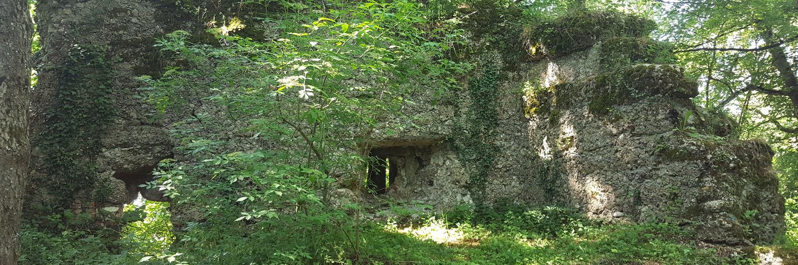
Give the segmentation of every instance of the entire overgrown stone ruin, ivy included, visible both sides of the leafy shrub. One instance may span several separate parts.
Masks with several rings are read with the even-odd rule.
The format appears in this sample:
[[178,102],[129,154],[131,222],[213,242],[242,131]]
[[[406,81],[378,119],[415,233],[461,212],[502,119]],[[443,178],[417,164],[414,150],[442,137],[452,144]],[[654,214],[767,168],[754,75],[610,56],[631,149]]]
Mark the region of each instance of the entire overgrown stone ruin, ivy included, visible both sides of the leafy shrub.
[[[223,2],[215,12],[247,18],[251,10],[235,5]],[[29,214],[46,211],[56,197],[87,212],[121,212],[139,192],[148,200],[168,200],[138,185],[152,179],[162,159],[184,155],[173,150],[169,125],[212,107],[188,99],[195,110],[151,119],[152,106],[136,97],[141,84],[135,78],[176,65],[154,50],[154,37],[177,29],[203,36],[196,15],[184,9],[140,0],[39,2],[42,52],[32,135],[40,147],[34,151],[39,160],[28,189]],[[574,24],[579,21],[589,23]],[[597,12],[559,23],[551,27],[583,31],[565,40],[556,30],[507,30],[519,45],[503,49],[486,45],[484,33],[472,33],[472,45],[484,52],[463,58],[478,65],[472,78],[459,80],[464,89],[440,99],[421,89],[411,96],[417,104],[402,108],[405,125],[415,126],[373,139],[370,155],[387,160],[373,166],[385,175],[369,176],[377,193],[437,211],[510,198],[571,207],[591,218],[670,221],[713,244],[771,242],[784,232],[772,150],[764,142],[735,139],[733,121],[693,105],[697,82],[673,64],[666,45],[649,39],[651,21]],[[627,26],[609,26],[618,24]],[[267,29],[257,37],[268,40],[277,33],[268,26],[247,29]],[[100,57],[121,60],[108,69],[94,63]],[[74,68],[83,65],[94,68],[76,74]],[[75,88],[75,82],[89,86]],[[52,115],[65,108],[64,92],[72,90],[101,99],[75,105],[89,118]],[[97,108],[101,103],[113,104],[113,111]],[[62,123],[66,127],[52,129]],[[73,124],[95,132],[73,131]],[[76,164],[94,161],[96,167],[53,165],[45,153],[53,150],[42,150],[53,138],[76,145],[60,150],[74,154]],[[56,172],[76,173],[82,181]],[[196,221],[190,216],[201,218],[188,212],[174,208],[176,227]]]

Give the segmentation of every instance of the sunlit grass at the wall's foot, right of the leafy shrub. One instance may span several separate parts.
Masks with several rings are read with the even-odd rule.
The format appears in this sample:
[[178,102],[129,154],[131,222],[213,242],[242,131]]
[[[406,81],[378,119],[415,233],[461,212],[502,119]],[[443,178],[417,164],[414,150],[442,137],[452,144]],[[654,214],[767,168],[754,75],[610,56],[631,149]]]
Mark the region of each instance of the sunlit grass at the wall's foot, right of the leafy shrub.
[[[567,216],[540,216],[541,208],[505,212],[504,218],[457,224],[435,216],[411,228],[395,223],[365,229],[363,264],[753,264],[702,249],[675,224],[606,224],[562,208]],[[553,211],[549,211],[553,212]],[[531,214],[530,214],[531,213]],[[537,224],[519,222],[536,216]],[[563,218],[565,217],[565,218]],[[445,217],[444,217],[445,218]],[[570,220],[553,231],[540,223]],[[528,218],[526,220],[529,220]]]

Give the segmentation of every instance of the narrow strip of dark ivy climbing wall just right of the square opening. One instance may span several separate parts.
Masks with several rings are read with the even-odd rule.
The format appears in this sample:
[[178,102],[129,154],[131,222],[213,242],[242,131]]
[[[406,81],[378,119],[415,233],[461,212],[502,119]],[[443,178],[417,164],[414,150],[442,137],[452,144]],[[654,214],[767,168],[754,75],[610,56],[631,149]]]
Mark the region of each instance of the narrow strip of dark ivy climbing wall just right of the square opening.
[[448,137],[449,145],[469,173],[466,189],[477,206],[484,205],[485,188],[488,184],[493,161],[499,147],[496,146],[496,127],[499,125],[498,74],[496,68],[484,68],[480,78],[472,78],[468,91],[471,106],[464,123],[456,124]]

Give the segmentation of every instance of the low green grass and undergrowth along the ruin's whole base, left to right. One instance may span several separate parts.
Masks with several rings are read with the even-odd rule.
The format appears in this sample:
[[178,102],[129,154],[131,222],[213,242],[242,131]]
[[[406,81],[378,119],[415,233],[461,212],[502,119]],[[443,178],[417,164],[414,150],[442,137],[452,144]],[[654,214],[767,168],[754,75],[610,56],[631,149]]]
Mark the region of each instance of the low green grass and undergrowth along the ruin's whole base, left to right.
[[[757,264],[701,247],[675,224],[610,224],[569,208],[506,202],[491,208],[460,206],[403,223],[361,223],[353,228],[358,251],[336,230],[302,232],[301,224],[290,222],[263,229],[231,224],[240,225],[200,225],[165,252],[148,249],[153,245],[145,242],[149,236],[137,236],[144,240],[139,244],[124,247],[117,241],[108,248],[93,236],[23,228],[26,259],[20,264]],[[140,263],[142,258],[147,260]]]

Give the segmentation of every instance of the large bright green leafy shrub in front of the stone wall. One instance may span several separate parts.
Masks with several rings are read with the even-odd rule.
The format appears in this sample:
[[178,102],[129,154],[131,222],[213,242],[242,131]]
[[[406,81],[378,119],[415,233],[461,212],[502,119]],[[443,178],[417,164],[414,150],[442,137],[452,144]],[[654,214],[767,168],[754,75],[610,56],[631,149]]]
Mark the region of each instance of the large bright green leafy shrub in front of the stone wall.
[[358,205],[339,202],[335,187],[363,189],[369,135],[391,134],[416,84],[447,88],[468,64],[443,57],[460,31],[419,28],[426,21],[414,3],[322,10],[263,18],[285,31],[275,41],[214,32],[221,45],[201,45],[181,31],[158,41],[186,64],[141,79],[158,109],[152,119],[188,104],[208,111],[172,124],[184,155],[156,173],[177,204],[207,209],[180,234],[175,247],[187,256],[220,264],[368,259],[365,224],[348,214]]

